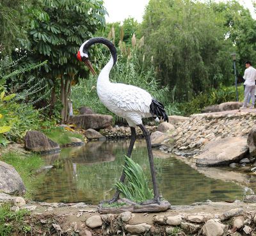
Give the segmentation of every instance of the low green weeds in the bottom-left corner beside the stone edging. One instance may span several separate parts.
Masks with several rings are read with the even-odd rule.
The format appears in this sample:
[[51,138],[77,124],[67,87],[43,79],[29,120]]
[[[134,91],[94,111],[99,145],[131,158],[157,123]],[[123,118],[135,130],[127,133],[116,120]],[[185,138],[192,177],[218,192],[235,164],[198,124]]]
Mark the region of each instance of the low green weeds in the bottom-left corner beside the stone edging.
[[13,212],[10,204],[0,206],[0,235],[10,236],[14,233],[29,233],[31,227],[24,223],[24,217],[29,216],[28,210]]

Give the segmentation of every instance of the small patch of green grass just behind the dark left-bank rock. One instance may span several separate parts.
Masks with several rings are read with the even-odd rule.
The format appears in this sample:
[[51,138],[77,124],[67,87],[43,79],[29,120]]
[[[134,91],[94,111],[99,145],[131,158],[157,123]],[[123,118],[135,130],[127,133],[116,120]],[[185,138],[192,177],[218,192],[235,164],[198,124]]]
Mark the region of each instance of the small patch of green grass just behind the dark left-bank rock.
[[63,127],[53,127],[51,129],[42,130],[44,134],[52,139],[54,142],[58,143],[58,145],[67,145],[71,143],[72,137],[79,138],[83,140],[83,136],[81,134],[77,134],[76,132],[70,132],[65,130]]

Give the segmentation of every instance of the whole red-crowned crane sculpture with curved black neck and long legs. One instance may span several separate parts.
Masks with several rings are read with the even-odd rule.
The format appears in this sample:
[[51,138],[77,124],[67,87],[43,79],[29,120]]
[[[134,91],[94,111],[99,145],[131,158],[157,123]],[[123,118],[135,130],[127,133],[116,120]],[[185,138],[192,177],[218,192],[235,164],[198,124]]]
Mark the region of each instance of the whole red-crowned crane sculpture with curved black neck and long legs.
[[[106,106],[109,111],[115,113],[116,115],[125,118],[129,127],[131,128],[131,141],[129,149],[127,152],[127,157],[131,157],[132,148],[136,139],[136,126],[138,125],[145,136],[147,142],[148,159],[150,164],[150,171],[153,182],[154,189],[154,199],[147,201],[149,203],[160,203],[159,191],[156,182],[156,171],[154,168],[154,159],[152,154],[152,146],[150,142],[150,133],[145,128],[142,123],[142,118],[156,117],[168,121],[168,116],[164,111],[164,106],[161,102],[158,102],[153,98],[147,91],[142,90],[136,86],[121,84],[121,83],[111,83],[109,81],[109,72],[111,68],[115,65],[117,59],[116,48],[113,43],[111,43],[106,38],[91,38],[84,42],[79,51],[77,52],[77,59],[83,61],[86,66],[90,69],[93,75],[96,75],[89,61],[89,48],[95,43],[102,43],[109,48],[111,52],[111,58],[105,67],[101,70],[98,80],[97,80],[97,94],[100,101]],[[120,182],[124,182],[125,173],[123,171],[120,178]],[[119,191],[117,190],[111,200],[107,202],[113,203],[119,198]]]

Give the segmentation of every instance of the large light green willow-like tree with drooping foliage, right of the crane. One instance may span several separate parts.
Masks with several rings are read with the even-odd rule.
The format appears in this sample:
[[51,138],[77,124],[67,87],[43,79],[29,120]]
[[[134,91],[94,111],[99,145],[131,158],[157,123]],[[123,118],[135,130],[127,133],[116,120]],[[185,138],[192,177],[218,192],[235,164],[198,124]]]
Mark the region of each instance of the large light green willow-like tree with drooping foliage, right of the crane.
[[200,91],[229,84],[234,49],[225,38],[225,19],[210,3],[190,0],[150,0],[141,33],[148,60],[176,100],[189,100]]

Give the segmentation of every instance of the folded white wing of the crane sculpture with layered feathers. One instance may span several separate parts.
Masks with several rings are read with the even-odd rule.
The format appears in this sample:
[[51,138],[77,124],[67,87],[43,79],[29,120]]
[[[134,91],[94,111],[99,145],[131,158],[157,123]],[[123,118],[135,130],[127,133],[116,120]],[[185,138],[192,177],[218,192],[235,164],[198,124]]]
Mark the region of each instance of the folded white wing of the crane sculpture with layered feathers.
[[136,86],[115,84],[109,98],[123,111],[150,113],[151,95]]

